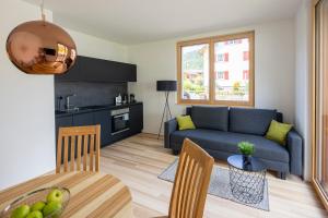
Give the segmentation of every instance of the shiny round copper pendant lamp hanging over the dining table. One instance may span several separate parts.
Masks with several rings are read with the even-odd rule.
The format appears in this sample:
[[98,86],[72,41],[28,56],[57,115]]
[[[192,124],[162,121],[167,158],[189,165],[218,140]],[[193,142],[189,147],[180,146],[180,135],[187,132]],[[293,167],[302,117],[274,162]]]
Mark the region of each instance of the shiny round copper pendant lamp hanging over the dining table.
[[7,52],[11,62],[27,74],[63,74],[77,60],[71,36],[45,19],[16,26],[8,36]]

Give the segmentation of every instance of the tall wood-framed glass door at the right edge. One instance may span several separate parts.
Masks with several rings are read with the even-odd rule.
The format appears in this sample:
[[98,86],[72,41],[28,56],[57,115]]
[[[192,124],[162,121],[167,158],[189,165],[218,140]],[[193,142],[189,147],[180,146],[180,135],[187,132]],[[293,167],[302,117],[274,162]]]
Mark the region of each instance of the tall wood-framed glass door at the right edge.
[[313,184],[328,208],[328,0],[314,10]]

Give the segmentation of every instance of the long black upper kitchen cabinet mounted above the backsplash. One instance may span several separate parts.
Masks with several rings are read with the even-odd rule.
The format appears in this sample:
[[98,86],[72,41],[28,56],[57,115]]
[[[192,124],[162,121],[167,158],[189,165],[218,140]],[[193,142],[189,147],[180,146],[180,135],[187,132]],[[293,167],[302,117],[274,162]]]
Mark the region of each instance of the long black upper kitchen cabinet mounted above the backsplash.
[[56,81],[137,82],[137,65],[79,56],[74,66]]

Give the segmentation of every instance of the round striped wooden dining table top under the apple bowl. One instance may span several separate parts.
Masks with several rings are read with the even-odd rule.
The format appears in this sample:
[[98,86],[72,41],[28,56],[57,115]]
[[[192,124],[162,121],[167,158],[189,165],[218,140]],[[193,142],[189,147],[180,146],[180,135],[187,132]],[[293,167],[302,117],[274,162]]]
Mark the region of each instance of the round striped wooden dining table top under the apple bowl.
[[23,194],[49,186],[71,192],[61,217],[132,217],[129,189],[117,178],[101,172],[69,172],[38,177],[0,192],[0,210]]

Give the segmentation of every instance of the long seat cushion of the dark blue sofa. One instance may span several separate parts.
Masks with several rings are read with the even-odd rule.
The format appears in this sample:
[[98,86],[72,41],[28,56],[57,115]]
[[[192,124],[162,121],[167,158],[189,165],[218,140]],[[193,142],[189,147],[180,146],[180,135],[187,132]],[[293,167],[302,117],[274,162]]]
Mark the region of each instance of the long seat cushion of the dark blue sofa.
[[185,130],[175,131],[171,134],[169,141],[173,148],[179,149],[184,140],[188,137],[204,149],[221,150],[238,154],[237,144],[247,141],[255,144],[255,157],[289,162],[290,156],[285,147],[269,141],[259,135],[241,134],[214,130]]

